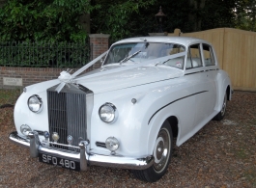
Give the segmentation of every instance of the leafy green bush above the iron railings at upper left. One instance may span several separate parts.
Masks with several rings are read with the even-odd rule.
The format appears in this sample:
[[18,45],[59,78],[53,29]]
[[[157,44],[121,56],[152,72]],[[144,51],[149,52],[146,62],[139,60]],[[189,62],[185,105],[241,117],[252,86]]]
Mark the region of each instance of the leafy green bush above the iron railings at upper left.
[[89,0],[9,0],[0,9],[0,39],[85,40],[79,18],[97,8]]

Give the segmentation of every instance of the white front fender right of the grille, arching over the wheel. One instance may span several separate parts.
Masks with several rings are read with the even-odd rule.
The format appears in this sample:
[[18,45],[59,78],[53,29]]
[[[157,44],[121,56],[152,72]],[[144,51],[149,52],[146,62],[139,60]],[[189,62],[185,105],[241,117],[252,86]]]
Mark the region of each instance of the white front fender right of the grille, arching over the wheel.
[[[95,143],[104,142],[107,137],[114,136],[121,143],[118,154],[137,157],[152,154],[158,131],[168,117],[182,117],[181,124],[193,121],[194,111],[189,111],[194,107],[195,97],[183,99],[193,90],[191,83],[181,79],[164,81],[161,85],[154,83],[150,86],[95,94],[90,136],[92,149],[107,151],[105,148],[97,148]],[[136,98],[135,104],[131,102],[132,98]],[[118,120],[112,124],[100,121],[98,115],[100,106],[105,102],[114,104],[118,109]],[[166,106],[168,103],[170,104]],[[185,141],[188,129],[189,126],[179,127],[180,144]]]

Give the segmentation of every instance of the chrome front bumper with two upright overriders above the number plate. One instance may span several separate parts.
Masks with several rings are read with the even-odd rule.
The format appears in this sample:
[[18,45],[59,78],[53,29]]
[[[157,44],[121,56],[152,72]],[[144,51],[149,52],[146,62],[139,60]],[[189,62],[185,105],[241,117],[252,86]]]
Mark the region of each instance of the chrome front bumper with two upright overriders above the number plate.
[[65,152],[56,148],[43,148],[39,141],[37,132],[30,132],[28,136],[30,139],[24,139],[19,137],[17,132],[12,132],[9,135],[9,139],[16,145],[29,148],[31,157],[38,157],[39,152],[43,152],[45,154],[51,154],[57,157],[80,162],[81,171],[86,171],[88,165],[144,170],[151,167],[154,163],[153,155],[144,158],[131,158],[117,155],[100,155],[96,153],[88,153],[86,151],[86,143],[79,144],[80,153]]

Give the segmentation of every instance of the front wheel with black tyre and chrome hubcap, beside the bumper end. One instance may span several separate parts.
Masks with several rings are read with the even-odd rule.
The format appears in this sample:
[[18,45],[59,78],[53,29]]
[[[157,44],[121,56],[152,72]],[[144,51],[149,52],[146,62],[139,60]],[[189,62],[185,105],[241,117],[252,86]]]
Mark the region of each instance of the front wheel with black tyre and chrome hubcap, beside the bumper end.
[[173,134],[168,121],[164,121],[156,138],[153,155],[155,157],[154,165],[146,170],[132,171],[137,178],[155,182],[165,174],[170,163],[173,148]]

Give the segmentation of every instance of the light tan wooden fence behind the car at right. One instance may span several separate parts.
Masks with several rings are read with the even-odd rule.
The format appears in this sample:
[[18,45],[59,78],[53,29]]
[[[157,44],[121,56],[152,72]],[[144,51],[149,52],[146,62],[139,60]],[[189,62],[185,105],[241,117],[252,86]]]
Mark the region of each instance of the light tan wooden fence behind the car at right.
[[256,32],[218,28],[195,33],[176,29],[168,36],[194,37],[213,44],[219,66],[228,72],[235,90],[256,92]]

